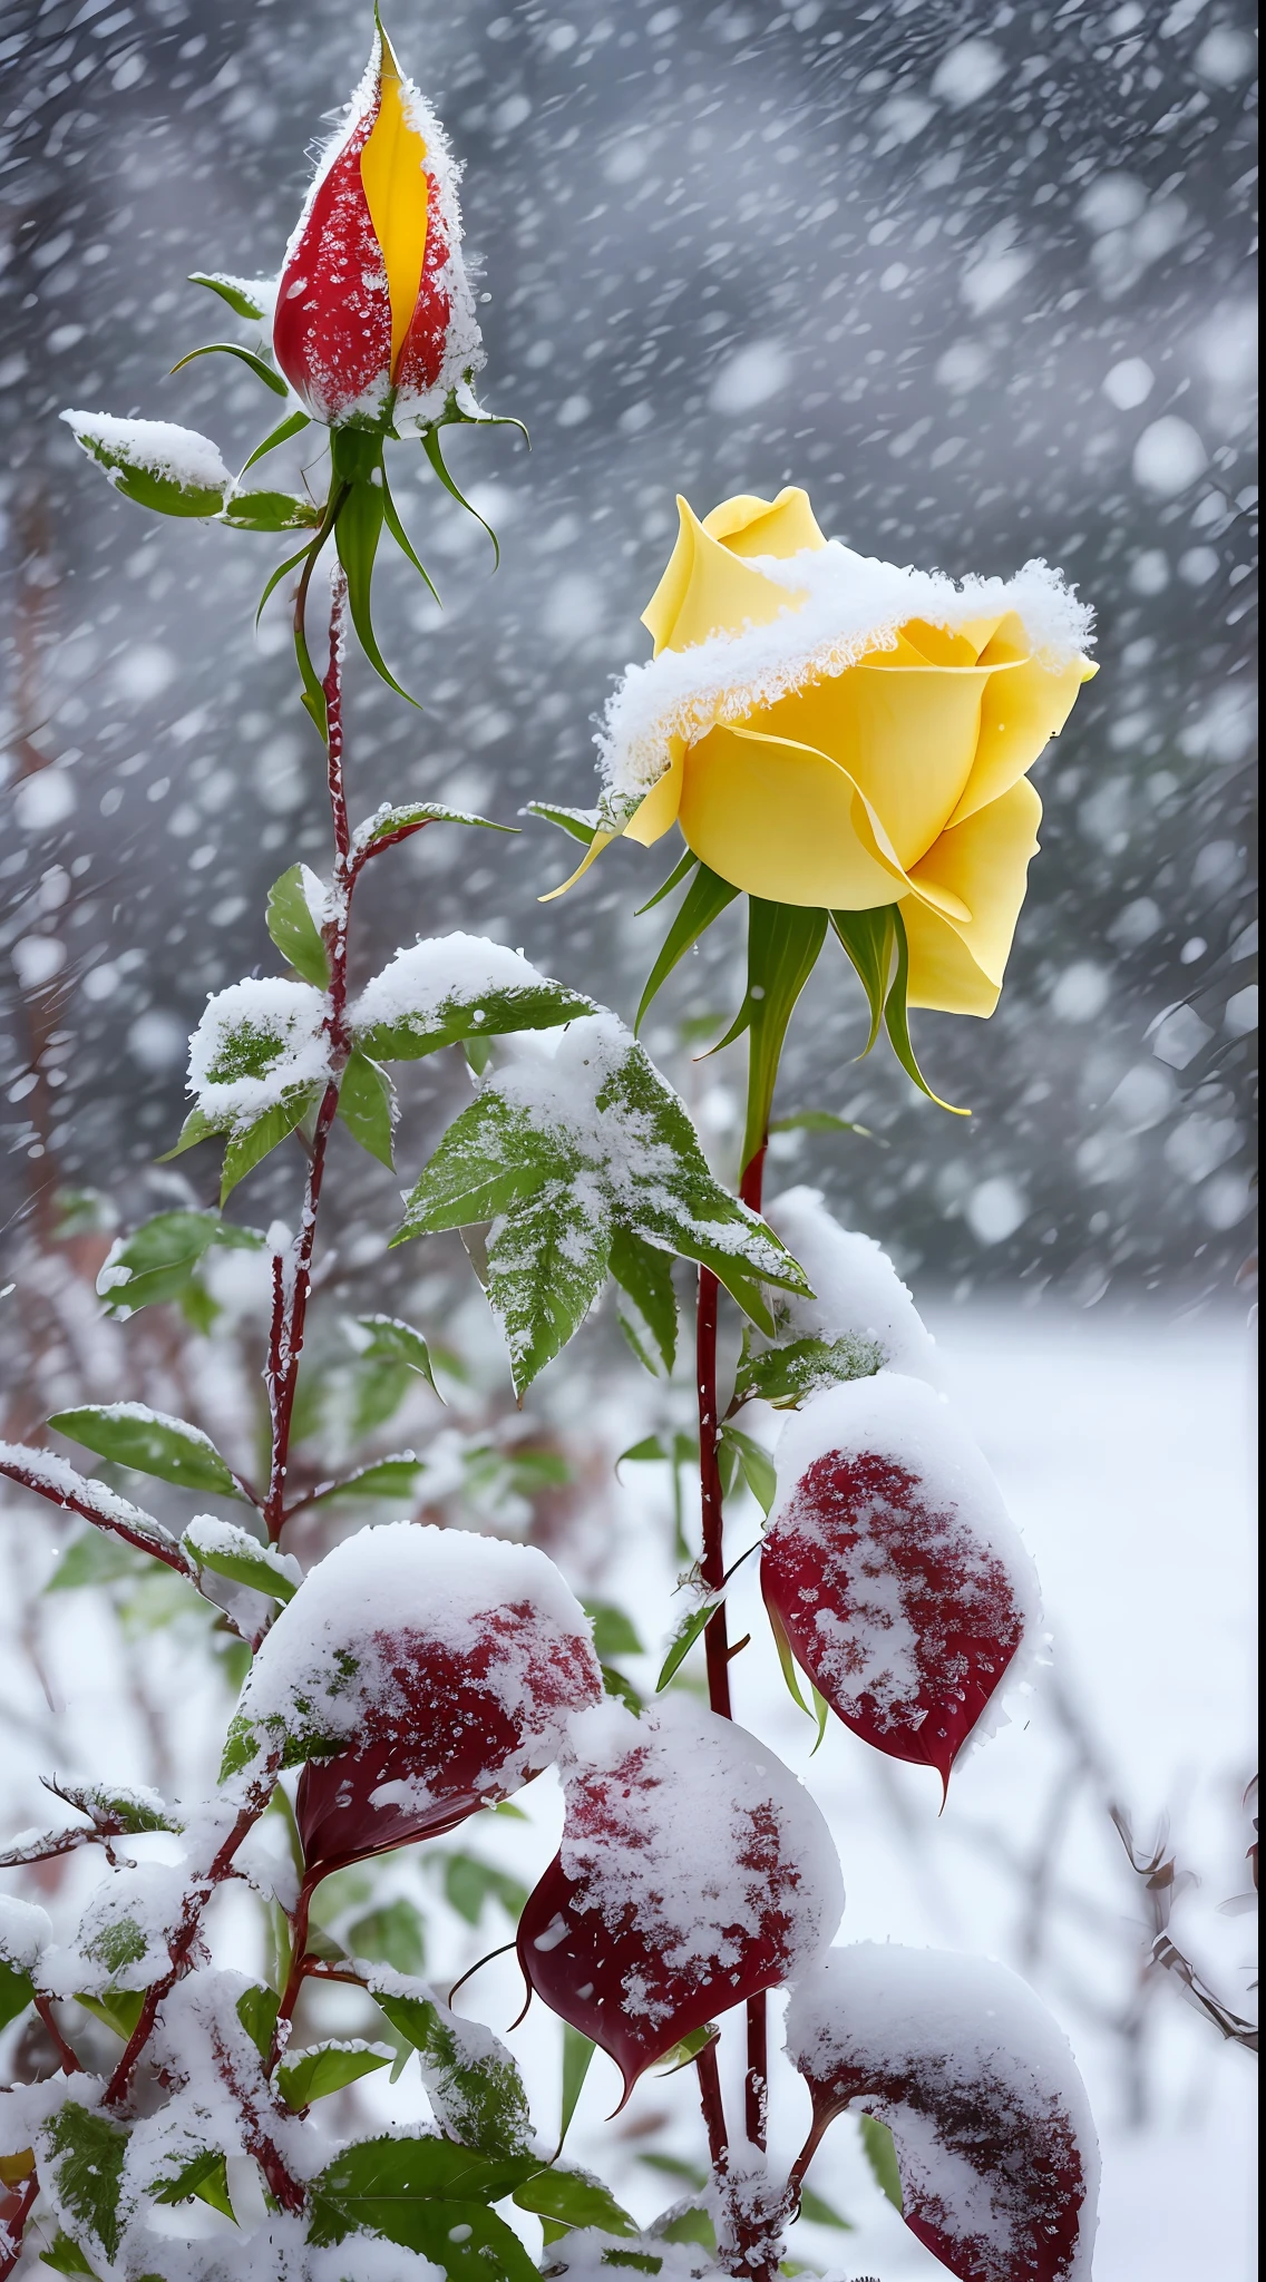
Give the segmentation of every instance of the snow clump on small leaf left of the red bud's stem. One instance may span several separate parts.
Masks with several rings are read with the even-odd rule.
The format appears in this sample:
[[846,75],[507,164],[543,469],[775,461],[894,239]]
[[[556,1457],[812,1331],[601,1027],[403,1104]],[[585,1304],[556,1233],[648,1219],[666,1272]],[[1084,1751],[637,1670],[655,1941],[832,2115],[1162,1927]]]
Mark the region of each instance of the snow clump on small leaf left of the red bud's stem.
[[244,1132],[287,1095],[328,1077],[326,997],[287,974],[208,997],[189,1038],[189,1093],[221,1132]]

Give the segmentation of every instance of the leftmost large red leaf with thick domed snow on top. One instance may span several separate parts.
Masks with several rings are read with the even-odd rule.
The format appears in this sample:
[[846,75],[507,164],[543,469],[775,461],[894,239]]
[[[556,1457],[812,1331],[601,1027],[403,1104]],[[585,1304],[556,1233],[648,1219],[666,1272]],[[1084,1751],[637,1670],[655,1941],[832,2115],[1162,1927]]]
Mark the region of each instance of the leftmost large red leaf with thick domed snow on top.
[[281,1611],[224,1771],[322,1762],[297,1800],[313,1883],[518,1791],[600,1693],[589,1618],[543,1552],[390,1522],[335,1545]]

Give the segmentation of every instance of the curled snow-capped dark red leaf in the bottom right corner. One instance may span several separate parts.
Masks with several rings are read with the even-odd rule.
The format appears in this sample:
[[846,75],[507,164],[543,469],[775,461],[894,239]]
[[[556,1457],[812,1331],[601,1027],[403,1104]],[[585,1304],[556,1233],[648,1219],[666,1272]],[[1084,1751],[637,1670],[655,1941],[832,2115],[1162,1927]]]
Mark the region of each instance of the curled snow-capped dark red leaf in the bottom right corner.
[[958,2282],[1090,2282],[1099,2147],[1068,2040],[1006,1965],[855,1942],[792,1990],[814,2104],[892,2131],[910,2232]]

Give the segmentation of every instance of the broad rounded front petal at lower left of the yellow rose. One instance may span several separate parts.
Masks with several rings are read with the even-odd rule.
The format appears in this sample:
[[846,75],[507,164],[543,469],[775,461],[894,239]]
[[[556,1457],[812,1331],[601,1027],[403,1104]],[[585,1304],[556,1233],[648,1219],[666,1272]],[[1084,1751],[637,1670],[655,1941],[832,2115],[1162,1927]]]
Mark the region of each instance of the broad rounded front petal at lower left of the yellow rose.
[[906,892],[851,776],[787,737],[709,730],[687,753],[677,822],[709,872],[766,904],[874,911]]

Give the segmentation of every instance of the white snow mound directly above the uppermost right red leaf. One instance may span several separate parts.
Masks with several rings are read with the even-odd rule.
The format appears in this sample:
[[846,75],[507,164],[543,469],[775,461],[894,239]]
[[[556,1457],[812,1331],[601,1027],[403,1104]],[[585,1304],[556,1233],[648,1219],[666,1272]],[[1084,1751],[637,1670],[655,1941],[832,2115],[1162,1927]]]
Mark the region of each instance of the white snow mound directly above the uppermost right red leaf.
[[764,1216],[814,1287],[814,1298],[778,1298],[785,1337],[874,1340],[887,1369],[940,1387],[935,1340],[874,1237],[842,1228],[821,1189],[785,1189]]

